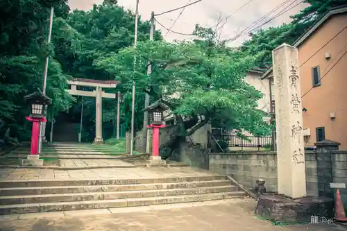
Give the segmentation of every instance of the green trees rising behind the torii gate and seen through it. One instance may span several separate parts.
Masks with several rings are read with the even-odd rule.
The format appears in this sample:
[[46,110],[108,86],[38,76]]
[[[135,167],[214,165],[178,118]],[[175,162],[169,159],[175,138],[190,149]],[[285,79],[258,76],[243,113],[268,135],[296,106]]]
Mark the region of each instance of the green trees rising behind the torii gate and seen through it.
[[[61,22],[65,24],[65,22]],[[59,51],[56,51],[58,60],[62,64],[65,73],[77,78],[89,78],[96,80],[113,80],[119,73],[110,74],[103,68],[96,67],[94,60],[107,57],[109,53],[118,53],[119,49],[133,46],[135,32],[135,15],[130,10],[125,10],[117,5],[117,1],[105,1],[94,5],[92,10],[74,10],[66,19],[66,25],[72,28],[75,39],[74,46],[65,40]],[[142,22],[139,17],[138,40],[149,40],[150,24]],[[155,31],[155,40],[162,40],[160,32]],[[131,117],[131,89],[117,85],[117,89],[108,89],[108,92],[116,93],[119,90],[123,96],[124,103],[121,107],[121,123],[130,130]],[[85,110],[83,116],[83,130],[87,132],[90,139],[94,134],[95,99],[84,98]],[[81,114],[82,98],[69,110],[69,117],[79,118]],[[105,138],[113,135],[115,126],[117,101],[103,100],[103,128]],[[142,110],[144,105],[144,93],[136,94],[135,108]],[[136,116],[136,129],[140,129],[143,117]],[[79,121],[79,119],[78,119]]]

